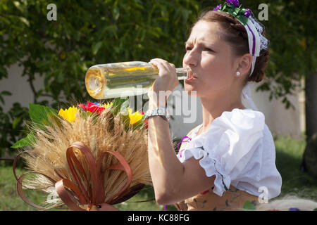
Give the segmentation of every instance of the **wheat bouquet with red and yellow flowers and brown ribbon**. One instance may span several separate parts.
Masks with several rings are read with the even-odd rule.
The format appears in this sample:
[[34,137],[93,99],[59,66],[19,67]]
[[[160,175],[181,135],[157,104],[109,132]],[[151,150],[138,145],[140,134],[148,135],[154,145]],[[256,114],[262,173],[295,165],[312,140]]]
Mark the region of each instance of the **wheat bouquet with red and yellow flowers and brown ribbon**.
[[[147,159],[147,119],[132,113],[128,98],[68,109],[30,104],[29,134],[12,147],[23,148],[13,162],[18,195],[41,210],[67,205],[70,210],[116,210],[151,184]],[[31,147],[31,150],[27,148]],[[19,177],[19,157],[29,171]],[[25,178],[26,174],[34,174]],[[54,196],[35,205],[23,188]]]

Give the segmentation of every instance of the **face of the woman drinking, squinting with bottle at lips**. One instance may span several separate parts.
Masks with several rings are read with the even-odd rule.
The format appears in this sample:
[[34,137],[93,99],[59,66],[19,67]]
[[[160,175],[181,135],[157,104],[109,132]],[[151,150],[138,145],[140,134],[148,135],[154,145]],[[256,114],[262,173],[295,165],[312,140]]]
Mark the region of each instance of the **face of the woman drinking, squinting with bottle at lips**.
[[219,23],[200,20],[194,25],[186,41],[183,67],[190,68],[185,79],[188,94],[197,91],[197,97],[218,97],[228,93],[235,82],[232,47],[222,37]]

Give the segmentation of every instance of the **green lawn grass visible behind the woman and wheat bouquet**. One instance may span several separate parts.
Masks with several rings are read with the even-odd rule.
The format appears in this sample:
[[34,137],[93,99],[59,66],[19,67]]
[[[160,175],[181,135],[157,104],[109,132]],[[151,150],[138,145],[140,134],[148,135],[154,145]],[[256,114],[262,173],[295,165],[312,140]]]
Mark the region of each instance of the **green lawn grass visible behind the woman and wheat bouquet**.
[[[317,179],[301,172],[300,165],[304,153],[305,141],[275,136],[276,167],[282,176],[282,192],[277,198],[294,194],[301,198],[317,201]],[[0,164],[1,165],[1,164]],[[25,172],[18,169],[18,174]],[[25,195],[33,203],[41,203],[44,198],[41,191],[25,191]],[[155,201],[146,203],[132,203],[134,201],[149,200],[154,198],[151,186],[145,186],[137,195],[124,203],[115,205],[119,210],[130,211],[163,211],[163,205]],[[21,200],[15,191],[15,178],[11,167],[0,167],[0,210],[29,211],[37,210]],[[67,207],[54,210],[68,210]],[[167,211],[176,210],[173,205],[168,205]]]

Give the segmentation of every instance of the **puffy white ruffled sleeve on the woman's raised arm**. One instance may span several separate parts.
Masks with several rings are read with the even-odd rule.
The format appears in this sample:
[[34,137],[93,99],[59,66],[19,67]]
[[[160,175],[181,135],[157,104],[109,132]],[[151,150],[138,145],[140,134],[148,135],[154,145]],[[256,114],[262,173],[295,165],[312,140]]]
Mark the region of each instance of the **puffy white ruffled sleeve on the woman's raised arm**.
[[251,156],[261,142],[264,126],[265,118],[259,111],[224,112],[207,131],[195,136],[178,158],[180,162],[200,159],[206,176],[216,175],[213,192],[222,196],[243,169],[256,160]]

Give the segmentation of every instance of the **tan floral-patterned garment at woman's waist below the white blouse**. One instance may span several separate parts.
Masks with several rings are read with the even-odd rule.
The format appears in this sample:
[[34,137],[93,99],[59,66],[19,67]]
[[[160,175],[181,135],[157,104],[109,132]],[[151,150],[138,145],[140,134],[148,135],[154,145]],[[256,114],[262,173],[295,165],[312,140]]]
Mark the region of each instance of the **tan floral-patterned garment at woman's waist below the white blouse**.
[[221,197],[209,189],[174,205],[180,211],[240,211],[247,200],[257,203],[258,196],[230,186]]

